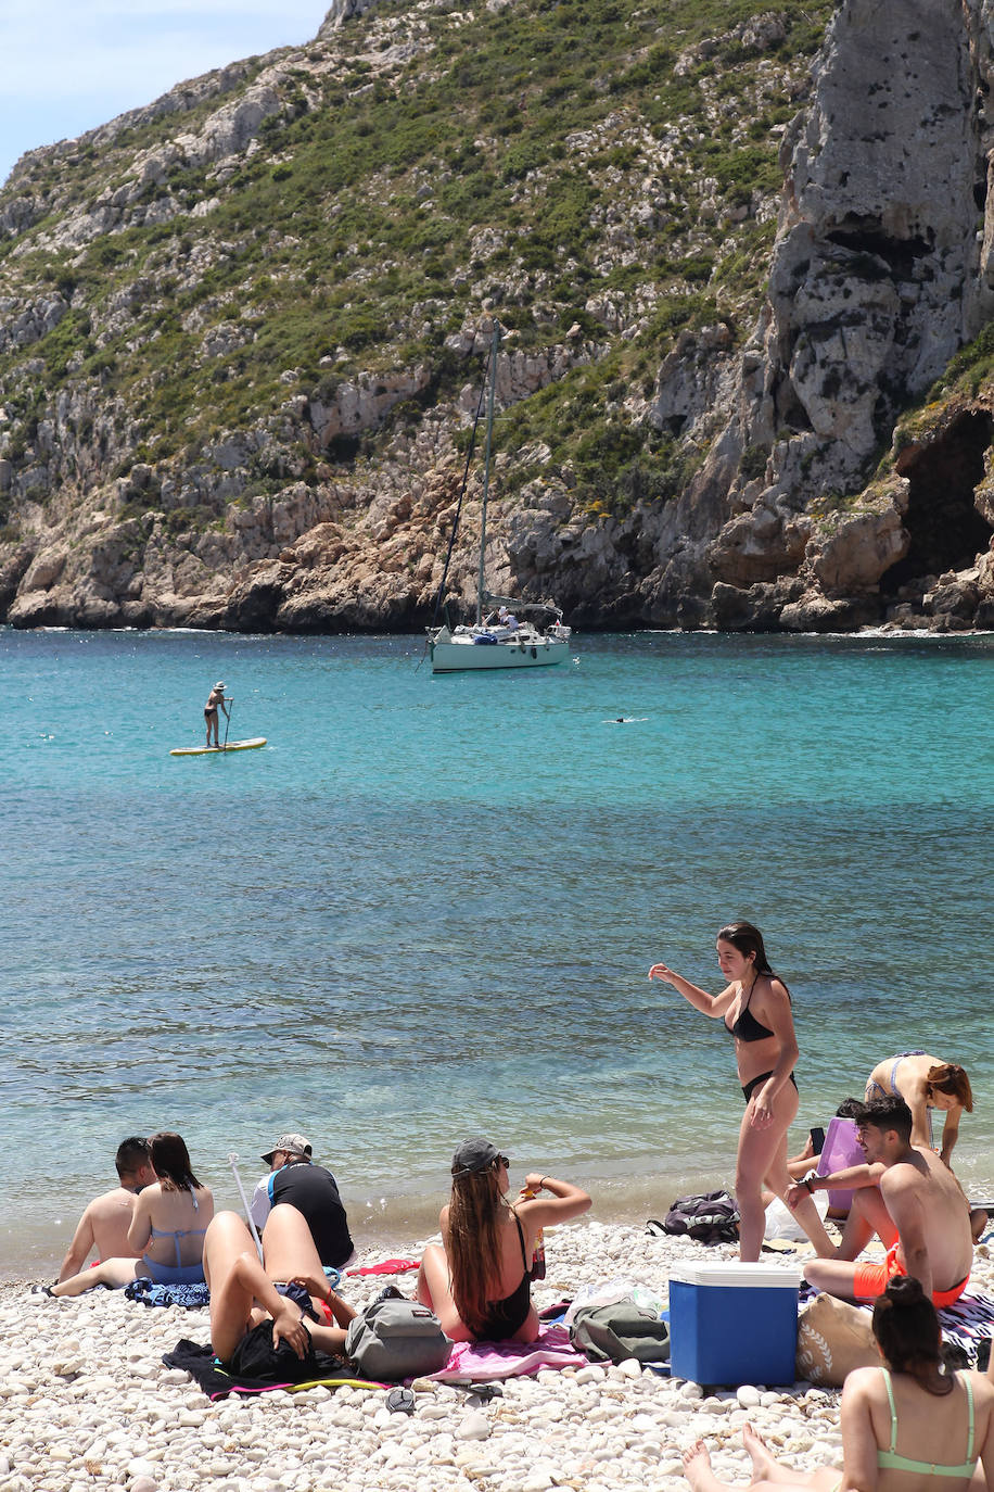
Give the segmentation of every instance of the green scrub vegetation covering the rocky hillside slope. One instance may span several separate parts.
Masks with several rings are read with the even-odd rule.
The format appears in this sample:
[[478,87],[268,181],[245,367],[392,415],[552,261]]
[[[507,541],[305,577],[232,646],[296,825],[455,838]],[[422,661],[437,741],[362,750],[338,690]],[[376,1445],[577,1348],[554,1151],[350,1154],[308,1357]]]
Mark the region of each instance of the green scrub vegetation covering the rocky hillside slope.
[[[253,428],[270,437],[256,489],[319,460],[376,461],[383,431],[314,451],[300,401],[422,366],[422,392],[386,425],[411,436],[475,376],[459,334],[493,312],[526,352],[571,333],[595,348],[508,409],[499,443],[547,448],[595,512],[666,500],[702,452],[647,419],[660,361],[683,331],[753,327],[779,139],[832,10],[788,0],[779,39],[767,27],[756,43],[748,22],[770,15],[757,0],[395,0],[280,54],[261,148],[206,167],[177,154],[131,201],[133,225],[77,246],[66,215],[128,192],[136,154],[195,133],[218,100],[72,158],[39,152],[0,206],[51,210],[0,240],[0,295],[67,309],[28,345],[0,342],[0,454],[40,463],[40,427],[75,391],[80,422],[113,422],[125,470],[189,464]],[[115,440],[89,434],[89,476],[106,477]]]

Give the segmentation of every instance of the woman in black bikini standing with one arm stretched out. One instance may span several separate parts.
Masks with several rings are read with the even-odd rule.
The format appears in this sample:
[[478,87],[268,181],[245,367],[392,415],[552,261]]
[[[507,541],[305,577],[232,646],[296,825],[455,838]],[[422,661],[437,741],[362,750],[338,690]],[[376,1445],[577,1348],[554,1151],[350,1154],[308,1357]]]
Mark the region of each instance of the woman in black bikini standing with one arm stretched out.
[[[745,1097],[735,1168],[735,1200],[741,1213],[739,1258],[753,1264],[763,1244],[763,1186],[779,1198],[793,1185],[787,1171],[787,1131],[797,1115],[797,1037],[787,985],[766,958],[763,934],[751,922],[730,922],[717,937],[718,965],[729,980],[720,995],[691,985],[666,964],[653,964],[650,979],[672,985],[694,1010],[723,1021],[735,1037],[735,1058]],[[809,1197],[794,1209],[817,1252],[835,1253]]]

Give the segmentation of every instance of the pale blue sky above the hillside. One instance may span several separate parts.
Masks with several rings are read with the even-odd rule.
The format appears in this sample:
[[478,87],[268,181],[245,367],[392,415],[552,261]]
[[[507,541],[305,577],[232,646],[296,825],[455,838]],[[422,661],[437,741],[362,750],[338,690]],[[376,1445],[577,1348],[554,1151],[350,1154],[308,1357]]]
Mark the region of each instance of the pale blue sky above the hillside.
[[188,78],[298,46],[331,0],[0,0],[0,182]]

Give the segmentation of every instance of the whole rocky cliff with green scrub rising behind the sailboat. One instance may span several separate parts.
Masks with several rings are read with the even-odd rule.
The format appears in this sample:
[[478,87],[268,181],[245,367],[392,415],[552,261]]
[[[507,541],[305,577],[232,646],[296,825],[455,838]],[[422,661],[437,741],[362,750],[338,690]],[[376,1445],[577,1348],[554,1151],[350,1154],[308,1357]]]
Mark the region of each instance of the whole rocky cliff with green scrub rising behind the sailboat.
[[[337,0],[0,192],[0,615],[994,625],[994,3]],[[478,476],[452,576],[474,586]]]

